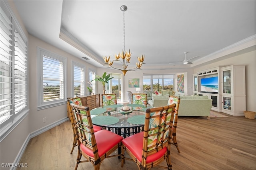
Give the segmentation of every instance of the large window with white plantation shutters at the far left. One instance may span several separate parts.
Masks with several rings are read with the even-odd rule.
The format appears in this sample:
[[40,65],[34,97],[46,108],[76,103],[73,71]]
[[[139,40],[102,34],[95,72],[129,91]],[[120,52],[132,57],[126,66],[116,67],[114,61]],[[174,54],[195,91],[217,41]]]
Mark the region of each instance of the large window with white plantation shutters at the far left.
[[27,38],[1,1],[0,132],[2,140],[28,113]]

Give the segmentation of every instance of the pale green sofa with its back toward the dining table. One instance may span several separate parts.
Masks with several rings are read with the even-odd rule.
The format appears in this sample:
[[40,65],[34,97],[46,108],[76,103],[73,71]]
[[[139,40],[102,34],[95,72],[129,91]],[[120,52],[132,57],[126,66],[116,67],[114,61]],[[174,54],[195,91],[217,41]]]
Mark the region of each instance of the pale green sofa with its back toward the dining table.
[[[168,99],[154,98],[153,107],[166,106]],[[179,116],[207,116],[210,119],[212,99],[208,96],[180,96]]]

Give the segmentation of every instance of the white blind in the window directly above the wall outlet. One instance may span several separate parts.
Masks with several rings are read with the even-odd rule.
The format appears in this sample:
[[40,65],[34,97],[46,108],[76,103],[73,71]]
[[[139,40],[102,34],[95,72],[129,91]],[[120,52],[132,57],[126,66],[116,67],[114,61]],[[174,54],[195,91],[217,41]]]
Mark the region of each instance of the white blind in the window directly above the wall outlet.
[[64,99],[63,61],[43,56],[43,102]]

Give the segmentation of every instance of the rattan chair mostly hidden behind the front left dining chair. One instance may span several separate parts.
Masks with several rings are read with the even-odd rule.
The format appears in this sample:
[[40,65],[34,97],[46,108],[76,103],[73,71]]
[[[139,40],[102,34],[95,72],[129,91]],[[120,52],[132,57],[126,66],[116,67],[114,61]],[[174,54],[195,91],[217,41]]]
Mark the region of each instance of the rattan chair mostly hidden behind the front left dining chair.
[[[73,137],[74,137],[74,138],[73,138],[73,146],[72,146],[72,149],[71,149],[70,154],[73,153],[74,148],[77,146],[77,139],[76,139],[77,131],[76,131],[76,128],[75,128],[74,117],[73,117],[72,110],[71,110],[71,107],[70,107],[70,104],[71,104],[71,103],[72,103],[72,104],[79,105],[79,106],[82,106],[81,98],[80,98],[80,97],[68,98],[68,101],[67,101],[67,105],[68,105],[68,114],[69,114],[69,117],[70,117],[72,129],[73,129]],[[93,129],[94,129],[94,131],[96,132],[96,131],[100,131],[100,130],[102,129],[102,127],[93,125]]]

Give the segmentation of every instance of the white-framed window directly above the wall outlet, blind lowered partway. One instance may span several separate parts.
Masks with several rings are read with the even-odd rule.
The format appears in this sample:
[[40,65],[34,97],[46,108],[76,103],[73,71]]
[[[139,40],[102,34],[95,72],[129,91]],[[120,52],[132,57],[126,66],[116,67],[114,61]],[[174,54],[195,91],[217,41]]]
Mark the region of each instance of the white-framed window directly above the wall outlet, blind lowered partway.
[[66,103],[66,59],[38,47],[38,109]]

